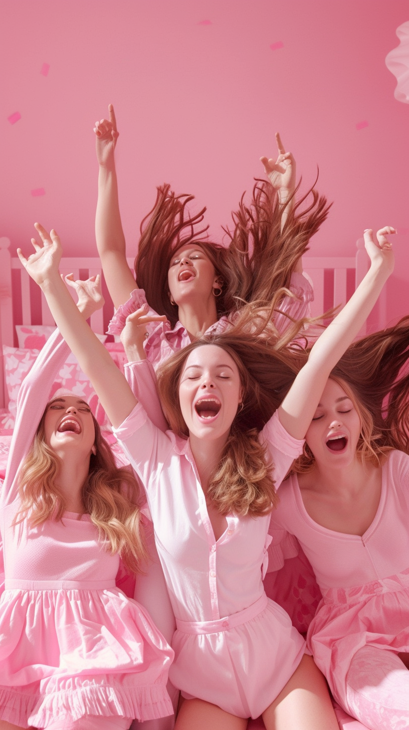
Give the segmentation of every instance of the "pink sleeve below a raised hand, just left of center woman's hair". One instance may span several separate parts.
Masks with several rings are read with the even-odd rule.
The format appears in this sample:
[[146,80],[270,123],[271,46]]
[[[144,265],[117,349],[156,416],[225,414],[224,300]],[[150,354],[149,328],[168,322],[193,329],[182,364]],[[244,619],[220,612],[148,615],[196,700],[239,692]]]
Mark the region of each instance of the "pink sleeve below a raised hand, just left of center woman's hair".
[[149,360],[127,363],[124,372],[132,393],[144,407],[149,420],[161,431],[167,431],[169,426],[156,390],[156,374],[152,363]]

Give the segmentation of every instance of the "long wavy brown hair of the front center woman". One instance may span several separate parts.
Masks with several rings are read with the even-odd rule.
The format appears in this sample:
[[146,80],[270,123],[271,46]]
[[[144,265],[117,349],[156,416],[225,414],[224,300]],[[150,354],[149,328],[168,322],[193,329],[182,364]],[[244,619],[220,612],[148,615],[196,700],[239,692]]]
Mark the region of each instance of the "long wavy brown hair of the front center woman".
[[259,441],[259,431],[283,401],[306,359],[303,350],[288,349],[286,338],[279,339],[273,330],[258,337],[265,325],[264,317],[259,315],[255,305],[245,307],[231,330],[191,342],[161,364],[157,372],[159,396],[169,425],[177,435],[187,437],[178,392],[189,354],[202,345],[218,345],[237,364],[242,408],[233,420],[207,492],[222,515],[265,515],[275,506],[274,465],[266,445]]

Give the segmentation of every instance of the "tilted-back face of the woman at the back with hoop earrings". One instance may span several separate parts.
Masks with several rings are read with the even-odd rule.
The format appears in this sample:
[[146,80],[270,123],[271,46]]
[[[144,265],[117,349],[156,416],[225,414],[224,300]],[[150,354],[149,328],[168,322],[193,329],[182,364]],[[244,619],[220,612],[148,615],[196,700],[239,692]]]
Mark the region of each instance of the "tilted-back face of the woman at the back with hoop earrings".
[[181,246],[172,256],[167,276],[169,292],[176,304],[183,304],[192,295],[208,299],[213,287],[220,286],[220,277],[210,258],[197,243]]

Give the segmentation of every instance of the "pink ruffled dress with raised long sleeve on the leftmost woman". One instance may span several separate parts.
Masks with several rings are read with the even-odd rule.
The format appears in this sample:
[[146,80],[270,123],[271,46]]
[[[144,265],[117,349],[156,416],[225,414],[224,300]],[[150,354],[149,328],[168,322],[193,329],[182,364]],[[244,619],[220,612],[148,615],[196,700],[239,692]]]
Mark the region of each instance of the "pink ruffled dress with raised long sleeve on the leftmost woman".
[[119,556],[104,549],[89,516],[12,526],[18,469],[65,358],[57,332],[20,388],[1,489],[0,718],[45,728],[86,715],[162,717],[173,712],[166,690],[173,651],[148,612],[115,587]]

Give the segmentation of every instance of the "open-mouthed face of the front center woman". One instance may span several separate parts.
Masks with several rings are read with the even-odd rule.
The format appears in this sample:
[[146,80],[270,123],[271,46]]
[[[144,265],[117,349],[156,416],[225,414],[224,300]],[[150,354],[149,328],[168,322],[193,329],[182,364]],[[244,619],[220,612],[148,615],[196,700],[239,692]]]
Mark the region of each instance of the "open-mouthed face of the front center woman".
[[217,345],[196,347],[180,375],[180,410],[189,433],[201,439],[227,439],[242,395],[232,356]]

